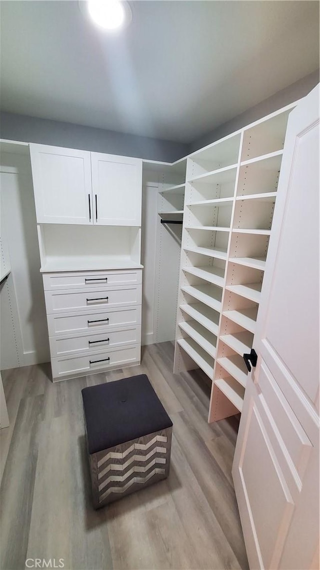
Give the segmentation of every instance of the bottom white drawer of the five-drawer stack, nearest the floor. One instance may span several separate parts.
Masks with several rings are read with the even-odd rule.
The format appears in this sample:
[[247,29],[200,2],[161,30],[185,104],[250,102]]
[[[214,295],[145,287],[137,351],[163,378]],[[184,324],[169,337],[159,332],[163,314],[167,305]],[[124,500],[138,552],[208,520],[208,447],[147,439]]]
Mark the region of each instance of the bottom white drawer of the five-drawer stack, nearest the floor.
[[122,368],[127,364],[140,362],[140,344],[122,348],[109,348],[108,351],[97,352],[90,355],[63,356],[51,359],[52,376],[55,380],[65,376],[80,376],[108,370],[108,368]]

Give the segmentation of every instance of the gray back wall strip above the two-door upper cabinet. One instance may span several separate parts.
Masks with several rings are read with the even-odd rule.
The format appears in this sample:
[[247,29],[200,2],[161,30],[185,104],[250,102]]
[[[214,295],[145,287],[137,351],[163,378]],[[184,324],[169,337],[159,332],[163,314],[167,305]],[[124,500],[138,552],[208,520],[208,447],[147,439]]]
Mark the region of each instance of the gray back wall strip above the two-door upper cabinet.
[[2,139],[65,146],[93,152],[105,152],[173,162],[188,154],[188,145],[151,139],[75,125],[48,119],[38,119],[15,113],[0,113]]

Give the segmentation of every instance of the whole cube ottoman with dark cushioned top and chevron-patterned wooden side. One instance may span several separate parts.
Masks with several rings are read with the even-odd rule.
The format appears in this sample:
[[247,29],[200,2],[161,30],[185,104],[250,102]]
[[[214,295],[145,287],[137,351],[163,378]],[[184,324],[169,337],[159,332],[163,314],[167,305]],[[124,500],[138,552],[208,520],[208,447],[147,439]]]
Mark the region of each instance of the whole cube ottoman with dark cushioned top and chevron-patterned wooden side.
[[146,374],[82,397],[95,508],[168,477],[173,424]]

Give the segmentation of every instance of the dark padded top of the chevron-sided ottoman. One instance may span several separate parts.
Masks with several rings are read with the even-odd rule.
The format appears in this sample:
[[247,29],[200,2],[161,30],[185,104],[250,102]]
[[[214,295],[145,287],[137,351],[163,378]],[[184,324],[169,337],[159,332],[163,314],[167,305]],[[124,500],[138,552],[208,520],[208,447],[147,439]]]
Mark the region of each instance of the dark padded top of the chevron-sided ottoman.
[[173,425],[146,374],[84,388],[82,397],[90,454]]

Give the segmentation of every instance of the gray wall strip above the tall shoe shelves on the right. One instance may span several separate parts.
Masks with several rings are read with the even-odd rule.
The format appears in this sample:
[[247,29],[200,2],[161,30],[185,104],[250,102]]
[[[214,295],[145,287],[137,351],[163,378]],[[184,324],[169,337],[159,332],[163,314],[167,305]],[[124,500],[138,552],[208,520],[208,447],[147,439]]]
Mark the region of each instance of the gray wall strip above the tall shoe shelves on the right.
[[298,80],[296,83],[292,83],[289,87],[278,91],[268,99],[265,99],[261,103],[255,105],[251,109],[248,109],[241,115],[237,115],[234,119],[227,121],[227,123],[223,123],[214,131],[210,131],[207,135],[203,135],[199,139],[193,141],[189,145],[189,153],[193,152],[194,150],[198,150],[207,144],[214,143],[222,137],[230,135],[249,125],[250,123],[254,123],[261,117],[269,115],[269,113],[273,113],[281,107],[285,107],[293,101],[297,101],[301,99],[301,97],[305,97],[307,93],[311,91],[317,84],[319,83],[319,70],[314,71],[310,75],[306,75],[306,77]]

